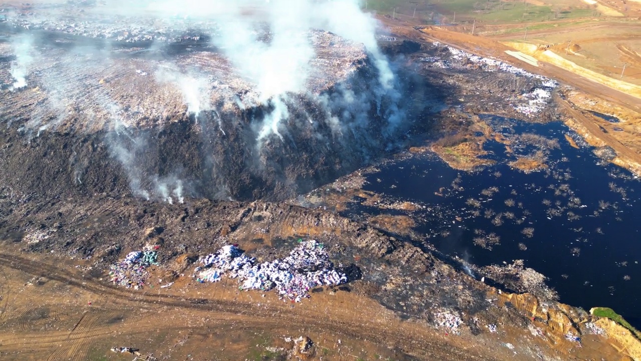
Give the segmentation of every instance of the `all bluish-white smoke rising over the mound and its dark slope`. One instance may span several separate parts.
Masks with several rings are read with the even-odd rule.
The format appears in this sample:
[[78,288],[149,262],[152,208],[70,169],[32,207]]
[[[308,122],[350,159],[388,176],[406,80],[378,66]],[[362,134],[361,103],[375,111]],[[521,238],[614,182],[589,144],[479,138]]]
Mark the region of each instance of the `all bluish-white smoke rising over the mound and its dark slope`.
[[[131,108],[119,103],[113,92],[91,83],[96,80],[90,82],[86,76],[74,74],[81,67],[94,67],[93,73],[106,75],[117,71],[114,68],[118,65],[110,60],[117,52],[78,47],[65,55],[58,66],[48,69],[40,78],[44,82],[41,85],[47,91],[49,109],[58,114],[42,110],[43,114],[32,118],[31,127],[54,129],[71,113],[90,116],[106,125],[104,128],[109,130],[104,143],[127,173],[129,188],[138,197],[167,202],[182,202],[185,195],[231,198],[234,191],[229,179],[245,169],[250,173],[249,180],[244,180],[247,184],[260,183],[269,175],[277,178],[276,188],[295,187],[301,180],[291,179],[288,174],[296,166],[297,152],[303,146],[296,139],[313,144],[314,148],[306,148],[308,154],[301,154],[310,159],[309,163],[324,162],[326,168],[349,170],[358,164],[347,158],[360,163],[369,161],[372,150],[394,143],[406,119],[395,66],[378,48],[378,24],[362,11],[358,0],[105,0],[83,9],[82,16],[100,19],[101,26],[122,23],[123,19],[140,24],[153,20],[153,24],[162,24],[158,33],[180,28],[206,35],[210,46],[229,63],[229,69],[251,84],[251,94],[233,94],[233,87],[220,84],[219,76],[197,66],[186,66],[180,57],[171,55],[148,58],[149,63],[156,64],[149,68],[149,74],[137,71],[141,77],[153,78],[158,86],[168,87],[167,92],[179,92],[187,116],[201,127],[203,149],[199,156],[203,165],[197,170],[201,174],[192,172],[187,177],[196,179],[185,179],[180,166],[154,168],[144,158],[156,139],[153,134],[131,128],[131,124],[145,119],[135,114],[152,109],[161,118],[167,112],[162,109],[163,104],[146,102],[150,92],[133,85],[138,80],[130,80],[130,96],[140,98],[138,105]],[[330,31],[365,49],[370,69],[361,76],[365,82],[339,82],[320,93],[310,89],[311,80],[329,76],[312,65],[318,56],[313,41],[319,31]],[[12,75],[17,89],[26,86],[34,49],[30,37],[15,39]],[[150,49],[162,48],[163,45],[152,44]],[[79,90],[88,88],[92,89],[88,96]],[[223,90],[233,96],[214,96]],[[245,110],[244,120],[234,115]],[[382,121],[372,122],[372,118]],[[243,125],[244,121],[249,121],[249,127]],[[331,163],[331,156],[337,153],[345,159]],[[239,158],[244,163],[232,164]],[[312,180],[303,181],[313,186],[317,175],[309,173],[307,177]]]

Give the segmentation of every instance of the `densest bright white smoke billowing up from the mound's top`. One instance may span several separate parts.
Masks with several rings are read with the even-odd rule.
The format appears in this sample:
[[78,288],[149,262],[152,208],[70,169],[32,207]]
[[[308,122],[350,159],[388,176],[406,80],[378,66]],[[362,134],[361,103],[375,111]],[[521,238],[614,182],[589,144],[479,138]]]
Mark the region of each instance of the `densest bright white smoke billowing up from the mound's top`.
[[[160,0],[137,1],[135,6],[120,0],[106,1],[106,7],[95,11],[127,15],[152,16],[171,22],[189,19],[197,23],[206,19],[218,24],[212,42],[233,64],[236,71],[255,84],[258,101],[269,104],[273,111],[265,116],[256,138],[260,143],[271,135],[283,136],[281,121],[287,119],[287,94],[306,91],[306,82],[314,75],[310,60],[315,51],[310,30],[331,31],[338,36],[363,44],[379,73],[379,98],[394,96],[395,75],[376,42],[378,23],[362,10],[360,0]],[[263,30],[267,30],[269,39]],[[206,101],[197,79],[185,76],[175,80],[183,89],[190,112],[198,112]],[[392,103],[399,100],[392,99]],[[380,101],[380,99],[376,100]],[[390,130],[401,121],[400,112],[388,110]]]

